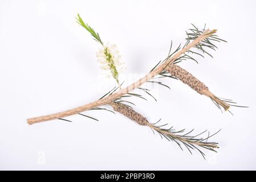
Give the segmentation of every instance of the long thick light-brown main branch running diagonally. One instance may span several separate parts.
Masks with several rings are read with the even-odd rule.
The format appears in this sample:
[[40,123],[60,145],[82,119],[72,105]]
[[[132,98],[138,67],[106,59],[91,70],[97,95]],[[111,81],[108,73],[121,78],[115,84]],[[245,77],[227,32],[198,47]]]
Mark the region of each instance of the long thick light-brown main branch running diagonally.
[[54,119],[64,118],[64,117],[68,117],[70,115],[78,114],[80,112],[83,112],[83,111],[86,111],[86,110],[90,110],[90,109],[92,109],[94,107],[110,104],[116,98],[119,98],[120,96],[123,96],[124,94],[132,92],[132,90],[138,88],[139,86],[141,86],[145,82],[151,80],[151,78],[155,77],[160,72],[162,72],[169,64],[172,64],[183,53],[188,51],[190,48],[196,46],[196,44],[200,43],[201,40],[204,40],[204,39],[208,38],[209,36],[211,36],[211,35],[213,35],[215,33],[216,33],[216,30],[210,31],[208,29],[208,30],[204,31],[200,36],[198,36],[197,39],[193,40],[192,43],[188,44],[188,46],[182,48],[180,51],[175,53],[172,57],[169,57],[169,59],[166,60],[165,63],[159,65],[152,72],[148,73],[143,78],[140,78],[139,80],[137,80],[133,84],[127,86],[124,89],[120,89],[116,93],[113,93],[111,96],[102,98],[101,100],[97,100],[97,101],[91,102],[89,104],[80,106],[80,107],[76,107],[74,109],[62,111],[60,113],[55,113],[55,114],[50,114],[50,115],[44,115],[44,116],[41,116],[41,117],[30,118],[30,119],[27,119],[27,123],[32,125],[34,123],[39,123],[39,122],[44,122],[44,121],[51,121],[51,120],[54,120]]

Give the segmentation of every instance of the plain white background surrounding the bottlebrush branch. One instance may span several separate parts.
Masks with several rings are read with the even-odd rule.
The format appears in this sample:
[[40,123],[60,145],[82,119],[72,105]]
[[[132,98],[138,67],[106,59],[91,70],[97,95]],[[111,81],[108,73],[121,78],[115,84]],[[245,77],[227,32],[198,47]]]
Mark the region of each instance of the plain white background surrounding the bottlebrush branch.
[[[256,169],[255,9],[252,1],[0,1],[0,169]],[[228,43],[214,59],[182,67],[217,96],[249,109],[222,114],[212,101],[176,80],[155,87],[156,103],[136,100],[150,122],[175,129],[222,131],[218,153],[188,151],[161,140],[120,114],[88,111],[72,123],[27,125],[26,119],[87,104],[115,85],[100,75],[99,47],[75,23],[80,13],[104,42],[116,43],[127,75],[147,73],[174,46],[185,43],[190,23],[218,29]],[[127,76],[123,76],[127,77]],[[126,81],[126,84],[130,83]],[[100,86],[101,85],[101,86]],[[109,107],[110,109],[110,107]],[[206,134],[207,135],[207,134]]]

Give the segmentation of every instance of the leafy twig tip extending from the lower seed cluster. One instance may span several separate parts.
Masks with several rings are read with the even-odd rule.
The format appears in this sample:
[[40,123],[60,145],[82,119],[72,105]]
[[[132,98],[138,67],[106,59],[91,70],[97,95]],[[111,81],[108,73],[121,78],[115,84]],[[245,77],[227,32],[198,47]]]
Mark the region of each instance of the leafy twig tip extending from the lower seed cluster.
[[[208,139],[213,137],[217,133],[219,133],[221,130],[217,131],[216,133],[214,133],[212,135],[210,135],[210,133],[208,132],[208,137],[200,138],[200,135],[206,133],[207,130],[205,130],[204,132],[202,132],[198,135],[189,136],[189,134],[191,134],[192,131],[194,131],[194,129],[189,131],[188,133],[184,134],[185,129],[176,131],[173,129],[173,126],[170,127],[169,129],[162,128],[168,124],[156,126],[157,123],[159,123],[160,121],[161,121],[161,119],[159,121],[157,121],[156,123],[151,123],[148,125],[151,128],[151,130],[153,131],[153,134],[155,134],[155,132],[156,132],[160,135],[160,137],[162,139],[165,138],[168,141],[175,142],[181,148],[182,151],[183,151],[183,148],[182,148],[181,144],[183,144],[183,146],[186,147],[186,149],[190,152],[190,154],[193,154],[192,150],[197,150],[204,157],[204,159],[205,159],[205,154],[198,147],[217,152],[216,150],[214,150],[214,148],[219,148],[217,146],[218,143],[208,142]],[[198,147],[196,147],[196,146],[198,146]]]

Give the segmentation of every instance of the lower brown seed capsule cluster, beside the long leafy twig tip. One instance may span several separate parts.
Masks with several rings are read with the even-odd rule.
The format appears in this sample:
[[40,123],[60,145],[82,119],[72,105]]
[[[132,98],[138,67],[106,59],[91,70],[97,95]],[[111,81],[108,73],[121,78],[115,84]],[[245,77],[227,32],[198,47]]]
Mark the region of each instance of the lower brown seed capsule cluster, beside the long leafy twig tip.
[[147,118],[143,117],[140,113],[137,113],[135,110],[131,109],[130,107],[121,104],[121,103],[113,103],[110,104],[113,107],[113,110],[125,115],[132,121],[135,121],[141,126],[146,126],[148,125],[148,120]]

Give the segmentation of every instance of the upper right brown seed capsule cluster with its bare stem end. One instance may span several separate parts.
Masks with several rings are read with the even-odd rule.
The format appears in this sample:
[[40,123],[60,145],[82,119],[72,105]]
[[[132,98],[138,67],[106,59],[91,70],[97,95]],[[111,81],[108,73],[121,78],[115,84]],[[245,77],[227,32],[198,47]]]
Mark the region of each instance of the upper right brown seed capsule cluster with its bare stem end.
[[229,105],[224,101],[220,100],[217,96],[214,96],[212,92],[208,89],[208,87],[194,77],[191,73],[186,71],[185,69],[179,67],[176,64],[170,64],[166,67],[166,70],[170,73],[170,75],[178,78],[178,80],[184,82],[184,84],[189,85],[190,88],[196,90],[197,93],[201,95],[205,95],[215,101],[218,105],[221,105],[225,110],[229,110]]

